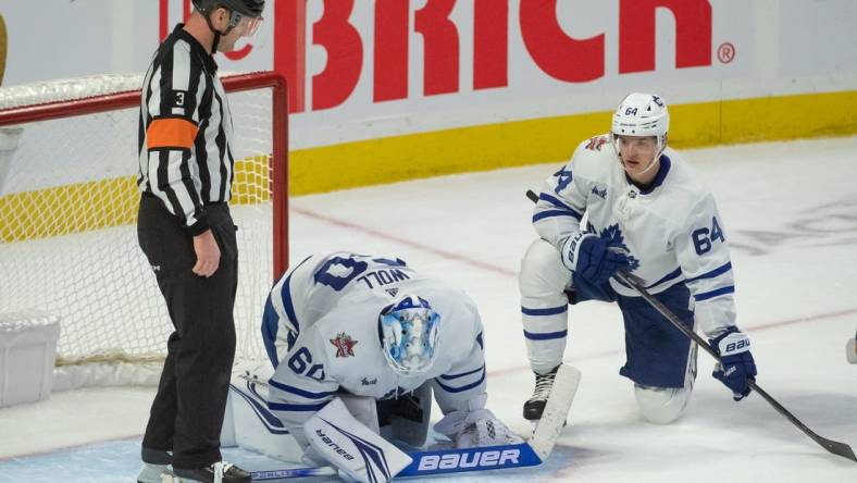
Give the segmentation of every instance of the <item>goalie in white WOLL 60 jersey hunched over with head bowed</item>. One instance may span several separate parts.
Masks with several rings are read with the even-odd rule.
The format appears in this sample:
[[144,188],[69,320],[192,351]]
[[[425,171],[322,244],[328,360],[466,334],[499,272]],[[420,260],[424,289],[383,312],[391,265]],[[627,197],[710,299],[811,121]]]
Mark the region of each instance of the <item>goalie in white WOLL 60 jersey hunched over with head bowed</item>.
[[306,462],[340,467],[305,429],[319,417],[335,428],[355,424],[348,411],[332,412],[340,397],[351,412],[355,399],[371,401],[377,428],[372,418],[365,425],[411,446],[425,442],[432,392],[444,412],[435,430],[458,447],[522,442],[485,409],[484,336],[473,301],[398,258],[307,258],[271,290],[262,337],[275,368],[269,409],[301,448],[312,447]]

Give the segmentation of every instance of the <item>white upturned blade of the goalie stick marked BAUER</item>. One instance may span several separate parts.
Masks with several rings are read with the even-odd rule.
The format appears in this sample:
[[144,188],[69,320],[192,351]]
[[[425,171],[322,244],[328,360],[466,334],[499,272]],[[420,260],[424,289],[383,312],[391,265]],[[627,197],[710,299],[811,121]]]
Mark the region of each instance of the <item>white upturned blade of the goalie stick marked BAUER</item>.
[[574,394],[577,392],[580,383],[581,371],[567,364],[559,367],[554,386],[550,388],[550,396],[548,396],[545,410],[542,412],[542,419],[530,439],[530,446],[542,458],[542,461],[546,460],[550,451],[554,450],[554,445],[566,424],[571,403],[574,401]]

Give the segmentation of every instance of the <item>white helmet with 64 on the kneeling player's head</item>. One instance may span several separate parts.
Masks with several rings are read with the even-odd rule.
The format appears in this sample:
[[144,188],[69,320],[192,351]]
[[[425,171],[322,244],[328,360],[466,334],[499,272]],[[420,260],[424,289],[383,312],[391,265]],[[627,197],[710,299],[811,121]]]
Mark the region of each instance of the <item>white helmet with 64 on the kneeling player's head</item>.
[[610,134],[614,146],[619,136],[655,136],[660,154],[669,131],[670,113],[663,99],[656,94],[632,92],[616,109]]

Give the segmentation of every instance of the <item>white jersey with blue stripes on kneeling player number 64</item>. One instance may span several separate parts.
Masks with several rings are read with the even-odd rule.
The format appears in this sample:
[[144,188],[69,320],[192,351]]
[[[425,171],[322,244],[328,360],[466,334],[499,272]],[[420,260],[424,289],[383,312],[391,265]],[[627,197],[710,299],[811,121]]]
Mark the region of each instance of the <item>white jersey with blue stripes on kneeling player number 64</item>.
[[[709,337],[735,324],[729,244],[715,199],[672,149],[661,154],[647,189],[629,182],[608,135],[582,143],[572,160],[542,187],[533,214],[538,235],[561,250],[582,230],[621,239],[633,274],[657,294],[683,283]],[[638,296],[616,278],[612,288]]]

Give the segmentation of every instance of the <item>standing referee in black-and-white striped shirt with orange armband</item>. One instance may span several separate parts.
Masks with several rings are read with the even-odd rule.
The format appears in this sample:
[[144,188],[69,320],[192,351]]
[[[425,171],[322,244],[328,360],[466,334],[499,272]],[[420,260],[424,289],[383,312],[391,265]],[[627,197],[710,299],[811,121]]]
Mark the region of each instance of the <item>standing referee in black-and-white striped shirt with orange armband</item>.
[[138,482],[161,473],[250,482],[224,463],[220,433],[235,357],[237,227],[229,215],[232,115],[212,55],[262,20],[264,0],[194,0],[152,59],[142,85],[137,237],[174,332],[154,396]]

